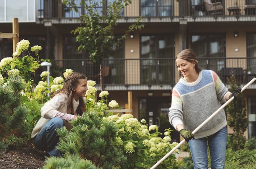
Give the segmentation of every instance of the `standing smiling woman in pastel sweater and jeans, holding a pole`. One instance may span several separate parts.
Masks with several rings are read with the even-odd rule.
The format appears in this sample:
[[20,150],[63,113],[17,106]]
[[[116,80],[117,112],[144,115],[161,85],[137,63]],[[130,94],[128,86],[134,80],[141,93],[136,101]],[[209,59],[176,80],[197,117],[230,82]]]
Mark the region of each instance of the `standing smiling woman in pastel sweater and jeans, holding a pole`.
[[230,93],[214,71],[200,70],[196,55],[190,49],[181,51],[176,57],[176,63],[181,78],[172,91],[169,121],[189,143],[194,169],[208,169],[207,143],[211,168],[224,169],[227,141],[224,110],[194,135],[192,131],[229,98],[241,97],[241,89]]

